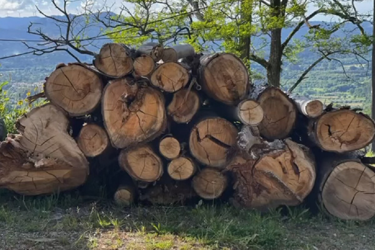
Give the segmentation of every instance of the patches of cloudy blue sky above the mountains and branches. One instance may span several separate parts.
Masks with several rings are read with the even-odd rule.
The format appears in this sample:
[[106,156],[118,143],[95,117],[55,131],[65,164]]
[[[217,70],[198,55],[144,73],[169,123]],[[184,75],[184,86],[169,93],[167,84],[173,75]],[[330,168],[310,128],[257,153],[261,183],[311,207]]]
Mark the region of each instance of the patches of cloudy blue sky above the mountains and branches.
[[[59,5],[61,6],[62,0],[57,0],[59,2]],[[71,13],[77,13],[78,11],[81,11],[82,4],[86,0],[72,0],[71,4],[69,4],[69,11]],[[93,1],[93,0],[89,0]],[[103,0],[95,1],[97,6],[102,5],[104,2]],[[106,1],[107,6],[110,6],[114,4],[114,9],[119,9],[121,1],[116,0],[107,0]],[[360,13],[368,13],[371,12],[374,9],[373,6],[374,2],[373,0],[363,0],[360,3],[356,3],[356,8]],[[58,10],[55,9],[55,7],[52,5],[51,0],[0,0],[0,16],[33,16],[36,12],[35,5],[37,5],[43,12],[45,12],[48,15],[58,15],[60,14]],[[314,11],[314,6],[309,7],[309,12]],[[39,15],[36,12],[37,15]],[[317,16],[314,18],[314,20],[320,20],[320,21],[329,21],[329,17],[324,16]]]

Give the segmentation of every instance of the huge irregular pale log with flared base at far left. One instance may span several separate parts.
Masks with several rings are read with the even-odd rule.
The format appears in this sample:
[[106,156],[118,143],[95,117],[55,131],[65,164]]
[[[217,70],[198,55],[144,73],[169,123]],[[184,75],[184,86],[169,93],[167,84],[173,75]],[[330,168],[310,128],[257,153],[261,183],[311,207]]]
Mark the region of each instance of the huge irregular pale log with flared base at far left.
[[71,190],[86,181],[89,163],[68,134],[65,111],[48,103],[21,117],[21,135],[0,146],[0,186],[21,195]]

